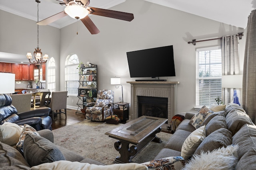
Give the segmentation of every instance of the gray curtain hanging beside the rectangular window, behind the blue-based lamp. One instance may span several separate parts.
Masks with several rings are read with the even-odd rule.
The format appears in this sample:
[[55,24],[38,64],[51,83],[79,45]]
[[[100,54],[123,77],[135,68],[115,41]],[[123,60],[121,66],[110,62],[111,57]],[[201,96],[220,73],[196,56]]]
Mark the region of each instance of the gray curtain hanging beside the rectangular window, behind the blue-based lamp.
[[[222,37],[222,75],[239,74],[239,54],[238,54],[238,39],[236,35]],[[238,97],[240,98],[240,89],[236,89]],[[234,88],[222,89],[222,101],[224,104],[233,103]],[[239,100],[241,103],[241,98]]]

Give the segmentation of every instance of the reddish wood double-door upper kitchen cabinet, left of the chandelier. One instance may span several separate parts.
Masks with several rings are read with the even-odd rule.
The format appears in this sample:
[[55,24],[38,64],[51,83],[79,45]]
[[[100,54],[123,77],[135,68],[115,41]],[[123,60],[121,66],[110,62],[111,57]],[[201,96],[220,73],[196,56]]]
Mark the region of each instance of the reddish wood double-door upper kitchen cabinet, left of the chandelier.
[[12,73],[15,74],[15,80],[29,80],[29,64],[13,64]]

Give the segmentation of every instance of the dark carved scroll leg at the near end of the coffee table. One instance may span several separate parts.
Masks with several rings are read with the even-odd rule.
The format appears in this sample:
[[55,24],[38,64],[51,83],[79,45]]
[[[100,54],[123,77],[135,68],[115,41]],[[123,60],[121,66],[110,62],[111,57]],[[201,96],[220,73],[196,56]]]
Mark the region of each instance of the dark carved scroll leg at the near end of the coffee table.
[[[114,146],[117,151],[119,151],[120,156],[117,156],[114,160],[114,163],[130,163],[132,160],[130,159],[130,156],[134,156],[138,150],[137,147],[132,145],[129,148],[129,144],[125,141],[116,141]],[[121,147],[119,147],[121,145]]]

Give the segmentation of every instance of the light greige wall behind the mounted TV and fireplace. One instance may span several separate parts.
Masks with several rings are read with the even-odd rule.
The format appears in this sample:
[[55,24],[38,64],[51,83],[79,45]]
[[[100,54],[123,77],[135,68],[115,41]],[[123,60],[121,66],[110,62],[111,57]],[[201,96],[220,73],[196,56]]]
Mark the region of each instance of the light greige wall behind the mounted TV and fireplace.
[[[70,53],[76,53],[84,63],[90,61],[98,64],[98,88],[114,90],[115,101],[122,96],[121,89],[110,85],[110,78],[120,76],[124,102],[130,102],[130,84],[126,82],[134,81],[136,78],[130,78],[126,52],[173,45],[176,76],[168,77],[168,80],[180,82],[178,113],[195,111],[196,48],[220,45],[220,40],[197,43],[196,46],[187,42],[192,39],[211,39],[244,31],[241,28],[144,0],[126,0],[110,9],[133,13],[134,20],[128,22],[90,16],[100,30],[97,35],[91,35],[81,21],[61,29],[60,82],[64,81],[65,58]],[[77,25],[78,35],[76,35]],[[244,55],[243,41],[245,36],[239,40],[241,57]],[[156,68],[152,69],[160,69],[160,64],[161,61],[157,61]],[[64,84],[61,84],[60,89],[64,89]]]

